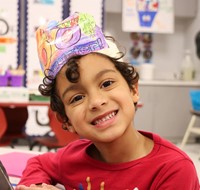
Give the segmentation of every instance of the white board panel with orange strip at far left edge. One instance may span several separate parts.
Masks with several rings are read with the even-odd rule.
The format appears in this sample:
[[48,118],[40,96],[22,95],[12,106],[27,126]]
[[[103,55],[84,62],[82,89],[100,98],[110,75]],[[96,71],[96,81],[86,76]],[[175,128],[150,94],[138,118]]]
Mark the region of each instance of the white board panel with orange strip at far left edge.
[[19,64],[19,0],[0,0],[0,75]]

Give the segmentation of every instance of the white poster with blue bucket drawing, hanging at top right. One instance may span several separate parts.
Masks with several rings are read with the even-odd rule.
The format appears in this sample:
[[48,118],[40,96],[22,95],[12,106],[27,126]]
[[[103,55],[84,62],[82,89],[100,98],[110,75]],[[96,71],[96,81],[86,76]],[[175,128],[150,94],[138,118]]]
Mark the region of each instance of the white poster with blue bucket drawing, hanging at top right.
[[173,33],[173,0],[123,0],[124,32]]

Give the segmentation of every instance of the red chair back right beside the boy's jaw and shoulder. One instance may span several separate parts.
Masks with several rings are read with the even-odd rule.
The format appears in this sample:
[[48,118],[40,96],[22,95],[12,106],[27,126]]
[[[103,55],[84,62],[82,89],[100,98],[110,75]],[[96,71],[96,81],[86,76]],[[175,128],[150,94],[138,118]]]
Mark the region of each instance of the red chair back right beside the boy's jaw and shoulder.
[[59,146],[61,147],[65,146],[68,143],[80,138],[79,135],[64,130],[62,128],[62,123],[60,123],[57,120],[55,113],[51,109],[49,109],[48,115],[49,115],[49,125],[52,131],[55,133]]

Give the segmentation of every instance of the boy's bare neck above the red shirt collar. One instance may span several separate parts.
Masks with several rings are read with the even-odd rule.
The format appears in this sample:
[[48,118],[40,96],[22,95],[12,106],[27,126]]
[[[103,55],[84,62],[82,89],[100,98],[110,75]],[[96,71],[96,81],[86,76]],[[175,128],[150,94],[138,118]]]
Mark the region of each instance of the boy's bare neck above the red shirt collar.
[[[153,149],[153,141],[134,128],[127,131],[126,139],[119,139],[111,143],[94,143],[88,154],[96,160],[107,163],[129,162],[142,158]],[[128,138],[128,139],[127,139]]]

